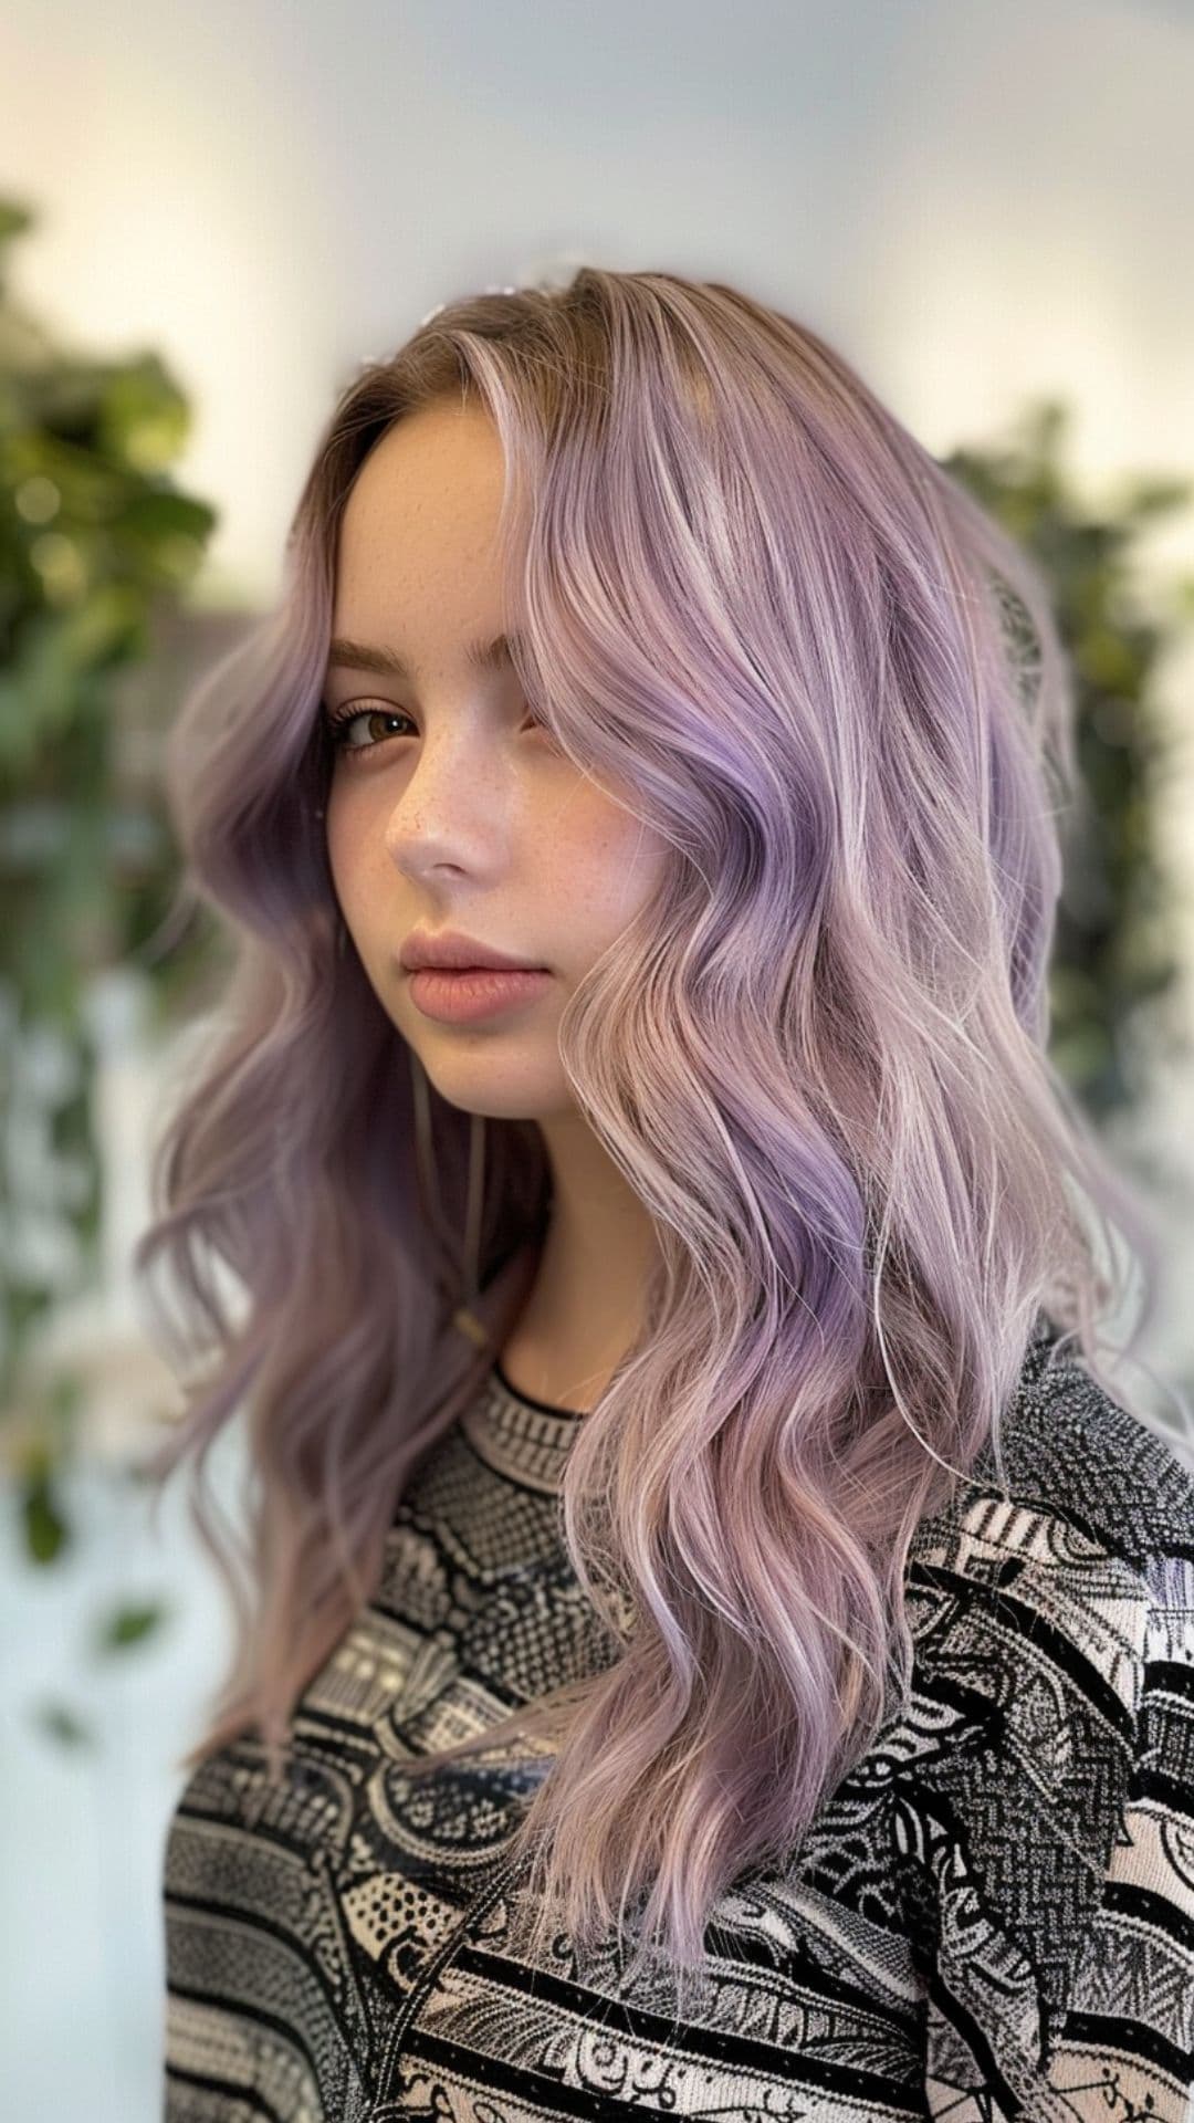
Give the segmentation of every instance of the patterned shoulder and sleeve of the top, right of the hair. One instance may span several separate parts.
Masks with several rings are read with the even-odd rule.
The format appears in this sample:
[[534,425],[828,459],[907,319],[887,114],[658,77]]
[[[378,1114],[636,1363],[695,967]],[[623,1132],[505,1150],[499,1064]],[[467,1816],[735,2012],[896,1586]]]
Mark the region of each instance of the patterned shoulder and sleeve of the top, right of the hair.
[[992,2083],[1030,2112],[1045,2087],[1096,2102],[1113,2059],[1141,2112],[1147,2091],[1183,2115],[1194,1475],[1045,1337],[1003,1473],[984,1450],[909,1552],[890,1766],[907,1921],[931,1943],[933,2112]]

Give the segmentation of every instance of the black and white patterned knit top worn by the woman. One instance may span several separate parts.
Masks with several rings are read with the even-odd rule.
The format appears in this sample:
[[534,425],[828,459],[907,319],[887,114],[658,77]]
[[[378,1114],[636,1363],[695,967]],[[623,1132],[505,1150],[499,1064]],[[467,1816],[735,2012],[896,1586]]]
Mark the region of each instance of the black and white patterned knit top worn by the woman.
[[504,1864],[527,1749],[404,1773],[616,1652],[557,1522],[576,1416],[497,1365],[285,1785],[242,1739],[181,1794],[166,2123],[1192,2123],[1194,1475],[1054,1342],[1039,1314],[1009,1497],[984,1454],[918,1529],[907,1713],[799,1862],[718,1900],[684,2017],[616,1938],[584,1979],[565,1934],[531,1960]]

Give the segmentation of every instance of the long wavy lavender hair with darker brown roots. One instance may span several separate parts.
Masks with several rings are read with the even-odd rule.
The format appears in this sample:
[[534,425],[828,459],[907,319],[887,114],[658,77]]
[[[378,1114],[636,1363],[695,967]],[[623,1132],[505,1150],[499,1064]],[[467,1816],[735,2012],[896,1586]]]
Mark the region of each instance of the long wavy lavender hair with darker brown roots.
[[[136,1248],[185,1318],[157,1308],[187,1410],[147,1473],[191,1459],[240,1618],[187,1766],[257,1730],[285,1775],[293,1705],[544,1242],[540,1129],[489,1119],[491,1346],[467,1342],[474,1117],[431,1087],[440,1225],[410,1051],[334,945],[338,522],[380,435],[442,401],[501,437],[527,701],[671,845],[559,1023],[661,1261],[561,1495],[610,1662],[404,1766],[527,1739],[550,1758],[516,1830],[540,1943],[646,1896],[644,1947],[693,1970],[718,1892],[795,1851],[903,1698],[911,1535],[988,1439],[1003,1480],[1041,1312],[1130,1405],[1101,1340],[1132,1263],[1139,1340],[1158,1246],[1045,1053],[1073,675],[1026,552],[841,355],[733,287],[586,265],[472,295],[342,389],[283,594],[191,690],[166,762],[185,892],[232,943]],[[240,1408],[246,1584],[204,1495]]]

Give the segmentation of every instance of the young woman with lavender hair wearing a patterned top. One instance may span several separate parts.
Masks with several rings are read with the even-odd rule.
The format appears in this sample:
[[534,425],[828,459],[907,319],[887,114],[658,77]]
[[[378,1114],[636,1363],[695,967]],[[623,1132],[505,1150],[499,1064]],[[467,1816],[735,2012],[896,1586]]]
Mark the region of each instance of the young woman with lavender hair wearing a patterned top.
[[151,1471],[253,1467],[170,2123],[1190,2115],[1194,1475],[1045,1055],[1075,781],[1041,575],[788,316],[584,267],[344,391],[170,754],[236,955]]

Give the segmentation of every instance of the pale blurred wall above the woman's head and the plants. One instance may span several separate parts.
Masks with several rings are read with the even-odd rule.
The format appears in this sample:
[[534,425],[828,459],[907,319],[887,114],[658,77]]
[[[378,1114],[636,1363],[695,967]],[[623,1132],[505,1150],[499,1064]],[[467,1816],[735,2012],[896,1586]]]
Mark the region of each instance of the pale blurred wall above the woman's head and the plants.
[[8,0],[0,183],[268,592],[336,380],[559,251],[741,280],[933,450],[1054,389],[1090,478],[1194,471],[1192,87],[1190,0]]

